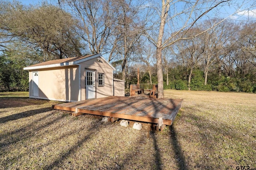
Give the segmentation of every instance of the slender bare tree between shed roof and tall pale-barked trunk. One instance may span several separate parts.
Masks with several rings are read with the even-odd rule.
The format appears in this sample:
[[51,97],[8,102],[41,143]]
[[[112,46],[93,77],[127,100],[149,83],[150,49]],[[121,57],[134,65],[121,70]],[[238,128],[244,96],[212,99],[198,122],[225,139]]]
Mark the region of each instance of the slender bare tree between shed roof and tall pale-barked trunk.
[[144,25],[140,21],[139,8],[133,6],[132,0],[118,1],[115,6],[117,18],[112,35],[116,37],[116,48],[113,49],[119,59],[122,60],[122,79],[125,80],[128,61],[132,53],[136,51],[136,43],[142,35]]

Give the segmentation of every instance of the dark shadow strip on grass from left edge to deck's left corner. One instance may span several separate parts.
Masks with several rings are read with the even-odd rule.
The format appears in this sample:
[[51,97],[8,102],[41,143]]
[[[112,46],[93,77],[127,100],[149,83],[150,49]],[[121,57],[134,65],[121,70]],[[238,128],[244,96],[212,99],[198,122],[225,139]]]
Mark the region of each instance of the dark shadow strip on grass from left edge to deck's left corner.
[[45,108],[42,108],[42,109],[28,110],[28,111],[24,111],[24,112],[21,112],[21,113],[8,115],[6,117],[1,117],[0,118],[0,123],[5,123],[5,122],[8,122],[8,121],[12,121],[12,120],[22,119],[22,118],[25,118],[25,117],[29,117],[29,116],[37,115],[37,114],[40,114],[40,113],[44,113],[44,112],[50,111],[50,110],[51,110],[50,107],[45,107]]

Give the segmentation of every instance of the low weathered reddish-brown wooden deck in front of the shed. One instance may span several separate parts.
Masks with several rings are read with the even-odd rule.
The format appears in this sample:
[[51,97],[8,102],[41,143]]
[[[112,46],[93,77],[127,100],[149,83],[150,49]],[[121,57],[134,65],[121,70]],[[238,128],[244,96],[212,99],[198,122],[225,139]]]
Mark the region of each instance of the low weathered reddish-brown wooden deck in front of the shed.
[[157,99],[110,96],[52,106],[54,109],[115,117],[132,121],[172,125],[183,99]]

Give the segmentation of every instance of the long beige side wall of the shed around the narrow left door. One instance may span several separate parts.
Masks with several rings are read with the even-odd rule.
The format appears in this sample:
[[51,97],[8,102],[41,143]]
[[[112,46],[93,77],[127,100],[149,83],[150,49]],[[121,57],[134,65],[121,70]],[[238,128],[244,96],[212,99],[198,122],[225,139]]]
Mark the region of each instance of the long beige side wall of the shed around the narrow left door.
[[[33,70],[36,71],[36,70]],[[39,75],[39,96],[49,100],[78,101],[78,66],[48,68],[37,70]],[[30,72],[30,84],[32,71]],[[30,86],[31,89],[31,86]],[[31,91],[31,90],[30,90]],[[32,96],[32,94],[30,94]]]

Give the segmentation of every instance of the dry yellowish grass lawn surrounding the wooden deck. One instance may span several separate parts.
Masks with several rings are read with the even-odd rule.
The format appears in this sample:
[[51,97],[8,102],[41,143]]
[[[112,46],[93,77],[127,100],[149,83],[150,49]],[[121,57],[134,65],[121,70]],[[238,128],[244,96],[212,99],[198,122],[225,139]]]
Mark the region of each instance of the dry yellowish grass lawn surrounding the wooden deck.
[[[59,102],[0,93],[1,169],[256,168],[256,94],[165,90],[184,99],[162,132],[53,110]],[[247,169],[248,167],[246,167]]]

